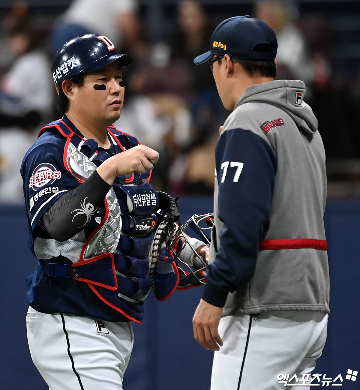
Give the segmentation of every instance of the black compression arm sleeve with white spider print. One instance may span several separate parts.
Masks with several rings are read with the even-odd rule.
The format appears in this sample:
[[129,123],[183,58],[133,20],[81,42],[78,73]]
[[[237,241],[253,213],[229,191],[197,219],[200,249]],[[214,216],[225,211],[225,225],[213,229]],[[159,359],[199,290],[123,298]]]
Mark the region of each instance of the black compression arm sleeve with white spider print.
[[95,214],[103,205],[110,188],[110,184],[95,171],[80,186],[64,193],[46,211],[42,218],[46,232],[57,241],[66,241],[78,234],[89,223],[90,214]]

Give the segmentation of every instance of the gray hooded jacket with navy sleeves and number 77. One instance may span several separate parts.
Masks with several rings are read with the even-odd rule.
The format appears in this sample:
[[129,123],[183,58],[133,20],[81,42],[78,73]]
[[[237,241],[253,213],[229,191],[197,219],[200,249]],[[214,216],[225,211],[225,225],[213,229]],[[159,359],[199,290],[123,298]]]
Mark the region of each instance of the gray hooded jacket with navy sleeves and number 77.
[[[222,129],[203,299],[220,307],[226,300],[225,316],[330,311],[325,151],[304,95],[296,80],[248,87]],[[261,241],[293,239],[316,245],[259,250]]]

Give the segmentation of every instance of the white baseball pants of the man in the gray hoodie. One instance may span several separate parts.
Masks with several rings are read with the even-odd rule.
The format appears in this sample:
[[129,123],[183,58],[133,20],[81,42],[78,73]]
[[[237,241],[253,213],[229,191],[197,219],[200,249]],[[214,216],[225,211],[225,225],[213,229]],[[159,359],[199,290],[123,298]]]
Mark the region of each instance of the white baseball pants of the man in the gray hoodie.
[[306,378],[302,375],[311,374],[323,351],[327,323],[328,314],[317,311],[223,317],[218,327],[223,346],[214,354],[211,390],[278,390],[284,388],[279,374]]

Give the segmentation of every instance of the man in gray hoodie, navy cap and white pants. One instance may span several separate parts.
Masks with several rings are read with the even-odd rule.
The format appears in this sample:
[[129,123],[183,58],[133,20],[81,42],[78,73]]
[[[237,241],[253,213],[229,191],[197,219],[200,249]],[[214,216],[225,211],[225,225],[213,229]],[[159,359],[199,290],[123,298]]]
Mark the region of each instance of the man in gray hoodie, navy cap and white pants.
[[216,145],[207,283],[195,339],[215,351],[211,390],[312,381],[326,340],[325,151],[305,84],[276,80],[277,40],[250,16],[216,27],[209,62],[232,113]]

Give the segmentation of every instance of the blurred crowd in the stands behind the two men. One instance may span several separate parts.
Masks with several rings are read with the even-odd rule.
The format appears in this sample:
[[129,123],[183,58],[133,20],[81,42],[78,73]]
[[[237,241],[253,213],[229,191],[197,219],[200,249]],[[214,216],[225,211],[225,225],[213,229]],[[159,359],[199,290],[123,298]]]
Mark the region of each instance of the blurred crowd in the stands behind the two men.
[[[360,198],[360,2],[355,0],[0,0],[0,202],[23,203],[21,160],[59,118],[51,58],[74,36],[106,35],[136,60],[118,129],[160,152],[152,182],[213,192],[218,129],[229,115],[207,64],[225,18],[249,14],[278,39],[278,79],[300,79],[325,144],[328,196]],[[305,156],[304,156],[305,158]]]

